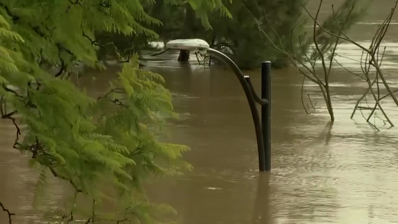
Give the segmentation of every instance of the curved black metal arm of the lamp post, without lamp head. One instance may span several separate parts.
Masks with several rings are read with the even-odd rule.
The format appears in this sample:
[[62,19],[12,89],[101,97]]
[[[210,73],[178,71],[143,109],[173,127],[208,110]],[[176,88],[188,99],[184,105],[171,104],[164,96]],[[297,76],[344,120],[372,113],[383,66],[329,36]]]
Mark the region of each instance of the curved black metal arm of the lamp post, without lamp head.
[[230,59],[228,56],[226,56],[224,53],[217,51],[215,49],[207,49],[207,53],[215,58],[220,59],[224,63],[226,63],[232,71],[234,71],[236,77],[238,78],[240,84],[243,87],[243,90],[246,94],[246,98],[249,102],[250,106],[250,111],[252,112],[252,117],[253,117],[253,122],[254,122],[254,129],[256,131],[256,138],[257,138],[257,149],[258,149],[258,166],[260,171],[266,170],[266,165],[264,158],[266,158],[266,155],[264,153],[264,139],[263,139],[263,133],[261,130],[261,122],[260,122],[260,117],[256,108],[256,101],[254,99],[255,93],[252,92],[250,85],[248,82],[246,82],[242,71],[240,71],[239,67]]

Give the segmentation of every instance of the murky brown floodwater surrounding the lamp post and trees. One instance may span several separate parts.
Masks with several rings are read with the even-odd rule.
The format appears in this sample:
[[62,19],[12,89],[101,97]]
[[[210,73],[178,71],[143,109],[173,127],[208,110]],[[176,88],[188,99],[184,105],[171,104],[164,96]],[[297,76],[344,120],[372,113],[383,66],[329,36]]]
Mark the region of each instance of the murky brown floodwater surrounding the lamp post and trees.
[[[393,1],[378,1],[371,16],[355,30],[371,32]],[[384,71],[398,82],[397,21],[387,35]],[[361,43],[369,34],[356,35]],[[361,51],[349,44],[340,53],[358,59]],[[349,117],[366,84],[336,67],[331,77],[336,121],[329,116],[315,84],[307,81],[304,102],[316,110],[302,109],[302,76],[289,68],[272,72],[272,172],[259,173],[256,138],[248,103],[232,73],[220,68],[204,69],[194,57],[189,65],[176,62],[168,53],[145,62],[148,69],[164,75],[181,119],[170,126],[175,143],[189,145],[185,159],[194,169],[177,179],[148,185],[156,202],[171,204],[181,224],[387,224],[398,223],[398,150],[396,128],[377,122],[376,132],[357,112]],[[144,54],[144,58],[149,58]],[[357,62],[339,58],[349,69]],[[89,91],[102,92],[112,70],[103,71],[94,82],[81,81]],[[259,71],[245,72],[259,92]],[[394,88],[398,86],[392,86]],[[370,97],[369,104],[372,105]],[[364,102],[362,106],[366,106]],[[398,110],[392,100],[383,106],[394,124]],[[369,112],[365,111],[364,115]],[[380,114],[381,115],[381,114]],[[27,168],[27,155],[12,149],[15,131],[0,120],[0,201],[18,216],[16,223],[37,220],[31,200],[38,171]],[[46,206],[62,204],[63,183],[51,182]],[[0,212],[0,224],[5,222]]]

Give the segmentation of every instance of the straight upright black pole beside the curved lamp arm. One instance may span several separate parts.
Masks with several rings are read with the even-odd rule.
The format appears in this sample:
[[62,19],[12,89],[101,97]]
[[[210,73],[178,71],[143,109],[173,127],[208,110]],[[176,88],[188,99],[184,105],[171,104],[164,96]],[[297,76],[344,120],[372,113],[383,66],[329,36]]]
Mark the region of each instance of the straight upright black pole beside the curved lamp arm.
[[265,171],[271,170],[271,61],[261,63],[261,98],[267,104],[261,104],[261,128],[265,150]]

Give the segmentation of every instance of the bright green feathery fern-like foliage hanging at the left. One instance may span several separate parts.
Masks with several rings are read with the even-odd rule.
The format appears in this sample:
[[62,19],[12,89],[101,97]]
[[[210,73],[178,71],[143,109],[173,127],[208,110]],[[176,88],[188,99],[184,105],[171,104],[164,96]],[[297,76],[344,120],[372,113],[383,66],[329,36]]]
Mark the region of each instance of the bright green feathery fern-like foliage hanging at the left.
[[[207,12],[228,14],[218,0],[188,3],[203,26],[209,27]],[[68,222],[79,209],[84,213],[84,206],[75,203],[78,194],[92,200],[92,210],[84,213],[88,221],[153,223],[160,212],[175,212],[151,204],[141,185],[151,174],[179,174],[190,168],[181,160],[187,146],[163,143],[156,135],[168,118],[177,117],[163,78],[140,70],[137,54],[121,58],[110,42],[124,63],[107,94],[92,98],[69,79],[76,62],[103,67],[96,52],[105,46],[95,40],[95,31],[157,38],[147,27],[162,23],[148,16],[143,4],[152,1],[0,2],[1,117],[16,127],[14,148],[29,152],[32,165],[45,167],[37,196],[45,193],[46,170],[75,190],[71,207],[59,214]],[[97,209],[104,201],[117,201],[115,214],[124,216],[105,216]]]

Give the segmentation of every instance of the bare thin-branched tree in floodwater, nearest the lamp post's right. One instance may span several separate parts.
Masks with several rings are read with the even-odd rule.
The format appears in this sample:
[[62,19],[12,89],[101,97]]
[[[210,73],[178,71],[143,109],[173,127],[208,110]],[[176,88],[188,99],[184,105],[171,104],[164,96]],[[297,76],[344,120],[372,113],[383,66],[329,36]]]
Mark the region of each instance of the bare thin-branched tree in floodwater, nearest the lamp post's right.
[[[339,35],[351,28],[352,24],[358,21],[361,16],[364,16],[367,5],[363,2],[358,3],[356,0],[345,0],[336,11],[333,10],[333,14],[328,16],[328,18],[321,23],[318,22],[318,16],[322,6],[322,0],[320,1],[315,16],[312,16],[310,12],[308,12],[305,3],[301,0],[298,2],[306,13],[298,15],[295,19],[297,22],[289,28],[286,27],[289,33],[283,33],[283,35],[279,34],[278,31],[273,28],[267,14],[264,14],[263,18],[256,18],[254,14],[252,14],[252,17],[257,22],[258,28],[263,35],[263,44],[265,47],[272,48],[274,51],[285,55],[285,57],[289,58],[293,65],[297,67],[298,71],[304,76],[304,79],[309,79],[313,83],[318,84],[328,108],[330,120],[334,121],[329,80],[336,49],[338,44],[342,42]],[[251,12],[249,8],[247,8],[247,10]],[[312,32],[307,34],[302,33],[300,30],[297,31],[296,28],[306,24],[308,18],[312,20]],[[271,33],[277,36],[277,39],[280,41],[275,41],[271,38],[269,34],[270,31],[264,30],[263,26],[261,26],[263,23],[269,26],[272,31]],[[319,28],[320,26],[322,28]],[[326,30],[330,33],[336,33],[336,37],[329,35]],[[283,39],[290,39],[291,45],[285,46],[282,42]],[[295,40],[298,40],[296,45]],[[316,69],[317,62],[321,63],[322,71]]]

